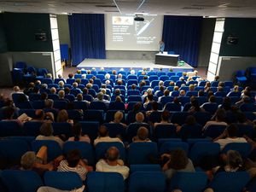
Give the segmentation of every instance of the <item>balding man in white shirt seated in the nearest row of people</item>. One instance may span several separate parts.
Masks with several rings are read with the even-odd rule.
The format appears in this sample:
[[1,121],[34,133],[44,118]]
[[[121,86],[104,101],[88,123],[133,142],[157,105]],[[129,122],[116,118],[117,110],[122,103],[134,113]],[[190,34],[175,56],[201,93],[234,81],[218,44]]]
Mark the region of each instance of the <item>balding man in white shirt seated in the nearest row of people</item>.
[[106,159],[96,163],[96,172],[119,172],[124,180],[129,176],[129,168],[119,159],[119,149],[116,147],[108,148]]

